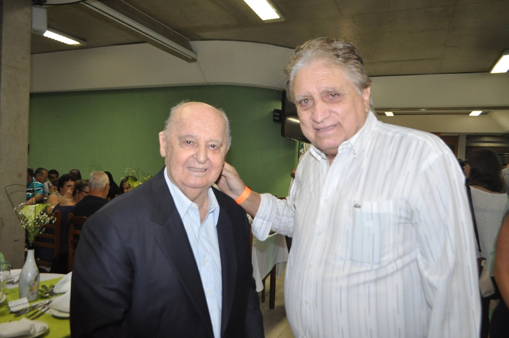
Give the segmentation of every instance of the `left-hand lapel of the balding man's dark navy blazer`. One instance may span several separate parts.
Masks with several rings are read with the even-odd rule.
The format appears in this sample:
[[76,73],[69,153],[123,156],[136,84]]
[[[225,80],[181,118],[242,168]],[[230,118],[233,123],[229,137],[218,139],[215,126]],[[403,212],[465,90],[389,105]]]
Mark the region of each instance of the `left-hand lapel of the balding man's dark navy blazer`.
[[172,194],[169,193],[166,181],[164,180],[163,172],[159,172],[159,174],[151,180],[154,180],[154,184],[152,185],[153,210],[151,219],[163,225],[156,240],[161,246],[166,258],[172,263],[181,280],[182,286],[206,323],[209,335],[213,336],[212,322],[210,321],[209,308],[207,306],[207,300],[205,299],[200,272],[194,260],[191,244],[189,244],[184,224],[175,207]]

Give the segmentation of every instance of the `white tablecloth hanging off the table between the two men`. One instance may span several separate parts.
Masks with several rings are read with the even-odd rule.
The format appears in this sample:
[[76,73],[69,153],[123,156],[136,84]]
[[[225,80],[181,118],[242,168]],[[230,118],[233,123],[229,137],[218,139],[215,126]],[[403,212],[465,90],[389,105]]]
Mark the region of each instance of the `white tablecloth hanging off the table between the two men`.
[[[251,262],[253,265],[253,277],[256,280],[256,291],[263,290],[262,279],[272,270],[277,263],[288,261],[288,246],[285,236],[272,234],[265,241],[259,241],[253,237],[253,252]],[[276,275],[279,278],[285,264],[278,264]]]

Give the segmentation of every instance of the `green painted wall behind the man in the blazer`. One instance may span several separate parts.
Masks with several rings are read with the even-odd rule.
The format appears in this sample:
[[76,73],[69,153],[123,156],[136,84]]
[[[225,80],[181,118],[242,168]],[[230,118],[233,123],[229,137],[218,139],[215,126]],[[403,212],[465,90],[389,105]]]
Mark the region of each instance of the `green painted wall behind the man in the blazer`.
[[164,165],[158,132],[182,100],[223,108],[232,128],[227,161],[259,192],[286,196],[297,165],[295,142],[281,137],[272,110],[281,92],[237,86],[194,86],[32,94],[29,165],[83,178],[109,171],[117,181],[131,167],[155,175]]

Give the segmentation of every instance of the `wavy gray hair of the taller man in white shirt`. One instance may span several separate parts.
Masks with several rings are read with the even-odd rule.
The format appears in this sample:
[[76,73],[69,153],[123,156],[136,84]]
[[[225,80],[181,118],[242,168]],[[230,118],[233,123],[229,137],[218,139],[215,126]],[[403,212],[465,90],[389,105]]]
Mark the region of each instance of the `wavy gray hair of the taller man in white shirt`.
[[[359,94],[363,89],[371,86],[371,79],[364,70],[364,63],[359,51],[351,42],[317,38],[298,46],[285,67],[287,96],[290,101],[294,102],[292,86],[295,75],[304,66],[317,59],[329,60],[332,64],[340,66],[345,71],[345,76],[357,87]],[[371,95],[370,108],[373,110]]]

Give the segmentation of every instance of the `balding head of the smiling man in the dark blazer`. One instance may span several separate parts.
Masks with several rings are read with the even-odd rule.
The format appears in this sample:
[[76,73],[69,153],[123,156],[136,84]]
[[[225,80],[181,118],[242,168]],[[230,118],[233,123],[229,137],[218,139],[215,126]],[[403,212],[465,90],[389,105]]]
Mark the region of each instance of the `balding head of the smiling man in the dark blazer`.
[[159,144],[168,178],[189,200],[203,202],[230,147],[228,118],[202,102],[181,103],[159,133]]

